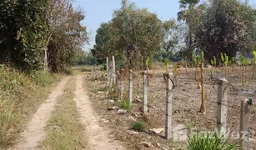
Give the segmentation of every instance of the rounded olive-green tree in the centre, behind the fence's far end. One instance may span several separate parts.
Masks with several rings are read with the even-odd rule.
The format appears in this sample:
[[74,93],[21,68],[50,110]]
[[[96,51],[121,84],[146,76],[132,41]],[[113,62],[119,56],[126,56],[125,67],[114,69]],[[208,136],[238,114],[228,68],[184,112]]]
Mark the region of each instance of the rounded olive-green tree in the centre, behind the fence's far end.
[[119,55],[133,67],[141,57],[153,57],[164,43],[165,32],[169,30],[155,13],[138,8],[134,3],[122,1],[122,6],[113,13],[109,28],[109,54]]

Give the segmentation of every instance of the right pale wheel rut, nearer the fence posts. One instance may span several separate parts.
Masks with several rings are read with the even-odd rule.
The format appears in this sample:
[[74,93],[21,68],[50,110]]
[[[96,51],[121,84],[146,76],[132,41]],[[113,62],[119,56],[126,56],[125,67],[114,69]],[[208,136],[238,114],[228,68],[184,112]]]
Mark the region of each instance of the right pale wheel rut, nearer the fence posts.
[[110,133],[108,128],[99,126],[99,118],[96,112],[93,111],[93,106],[83,86],[83,79],[83,76],[77,76],[75,101],[77,102],[78,112],[81,115],[81,122],[86,128],[88,148],[91,150],[123,150],[124,148],[120,143],[108,137]]

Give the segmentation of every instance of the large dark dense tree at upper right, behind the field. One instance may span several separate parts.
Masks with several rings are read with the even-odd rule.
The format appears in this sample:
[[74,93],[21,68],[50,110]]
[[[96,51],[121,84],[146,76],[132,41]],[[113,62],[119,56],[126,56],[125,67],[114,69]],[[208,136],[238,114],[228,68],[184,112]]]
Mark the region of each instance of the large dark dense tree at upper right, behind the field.
[[198,46],[208,60],[213,56],[220,60],[220,52],[235,57],[236,52],[245,50],[247,26],[241,18],[242,5],[238,0],[209,2],[196,34]]

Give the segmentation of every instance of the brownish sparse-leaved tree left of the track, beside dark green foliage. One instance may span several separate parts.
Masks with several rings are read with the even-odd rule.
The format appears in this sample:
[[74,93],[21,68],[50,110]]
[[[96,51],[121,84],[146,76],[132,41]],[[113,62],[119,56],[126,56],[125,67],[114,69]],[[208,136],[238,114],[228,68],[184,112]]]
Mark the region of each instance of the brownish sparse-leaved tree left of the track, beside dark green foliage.
[[48,7],[49,33],[45,37],[48,47],[48,66],[52,72],[64,71],[73,64],[78,49],[88,42],[82,10],[75,10],[72,0],[51,0]]

